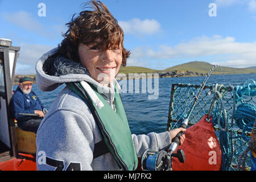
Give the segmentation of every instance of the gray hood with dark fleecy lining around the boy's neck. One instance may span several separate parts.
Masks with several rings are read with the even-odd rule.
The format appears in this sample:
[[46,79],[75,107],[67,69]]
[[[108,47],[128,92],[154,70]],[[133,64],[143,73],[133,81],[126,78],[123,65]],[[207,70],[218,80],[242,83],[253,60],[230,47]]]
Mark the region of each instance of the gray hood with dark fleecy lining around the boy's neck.
[[[65,82],[85,81],[100,89],[107,100],[113,100],[114,86],[120,90],[117,80],[110,84],[110,88],[102,86],[86,70],[84,65],[57,55],[57,49],[45,53],[36,63],[36,84],[44,92],[50,92]],[[111,94],[111,95],[109,95]]]

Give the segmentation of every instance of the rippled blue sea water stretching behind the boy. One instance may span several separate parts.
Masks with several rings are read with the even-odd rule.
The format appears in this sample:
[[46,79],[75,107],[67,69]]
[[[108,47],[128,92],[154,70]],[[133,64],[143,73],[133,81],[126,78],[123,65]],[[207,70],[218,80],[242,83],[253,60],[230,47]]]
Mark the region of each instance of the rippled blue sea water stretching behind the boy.
[[[200,85],[205,76],[201,77],[172,77],[159,78],[159,96],[156,100],[148,100],[151,93],[122,93],[123,106],[125,107],[131,133],[148,134],[150,132],[160,133],[167,130],[168,109],[170,104],[172,84],[195,84]],[[243,86],[246,80],[256,81],[256,74],[239,75],[211,75],[207,85],[224,84],[224,86]],[[140,84],[141,86],[141,84]],[[17,85],[14,85],[14,90]],[[42,92],[36,84],[32,90],[37,94],[44,106],[49,109],[57,94],[65,87],[65,84],[52,92]]]

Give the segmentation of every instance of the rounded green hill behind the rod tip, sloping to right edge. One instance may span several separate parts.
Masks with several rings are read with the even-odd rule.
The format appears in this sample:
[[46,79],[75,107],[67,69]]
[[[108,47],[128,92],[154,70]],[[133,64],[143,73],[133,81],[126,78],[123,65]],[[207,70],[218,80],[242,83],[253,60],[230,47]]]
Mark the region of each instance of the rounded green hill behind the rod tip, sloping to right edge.
[[[210,68],[213,65],[203,62],[203,61],[192,61],[185,64],[176,65],[174,67],[170,67],[165,69],[165,71],[192,71],[197,73],[206,74],[209,72]],[[255,69],[252,68],[230,68],[230,67],[222,67],[222,68],[215,68],[213,74],[239,74],[239,73],[256,73]]]

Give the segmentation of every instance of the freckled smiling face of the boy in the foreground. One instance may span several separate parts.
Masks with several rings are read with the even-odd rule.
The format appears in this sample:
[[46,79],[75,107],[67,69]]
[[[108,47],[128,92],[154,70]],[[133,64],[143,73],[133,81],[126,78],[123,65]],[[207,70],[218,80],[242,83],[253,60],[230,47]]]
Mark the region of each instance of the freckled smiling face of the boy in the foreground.
[[79,57],[90,76],[103,86],[109,86],[122,64],[121,46],[102,50],[94,45],[79,44]]

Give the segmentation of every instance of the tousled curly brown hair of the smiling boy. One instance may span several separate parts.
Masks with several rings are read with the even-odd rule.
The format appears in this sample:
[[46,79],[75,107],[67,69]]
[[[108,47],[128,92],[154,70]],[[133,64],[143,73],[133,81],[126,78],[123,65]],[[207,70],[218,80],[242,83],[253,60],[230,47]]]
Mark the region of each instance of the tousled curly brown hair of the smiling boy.
[[[86,45],[96,43],[96,47],[104,50],[121,45],[121,66],[125,67],[130,51],[123,47],[124,34],[117,20],[100,1],[92,0],[85,3],[84,7],[86,5],[89,5],[93,11],[81,11],[76,18],[74,18],[76,14],[72,16],[71,22],[66,24],[69,29],[63,34],[64,40],[59,45],[59,55],[80,63],[78,52],[80,43]],[[100,42],[96,42],[96,39]]]

